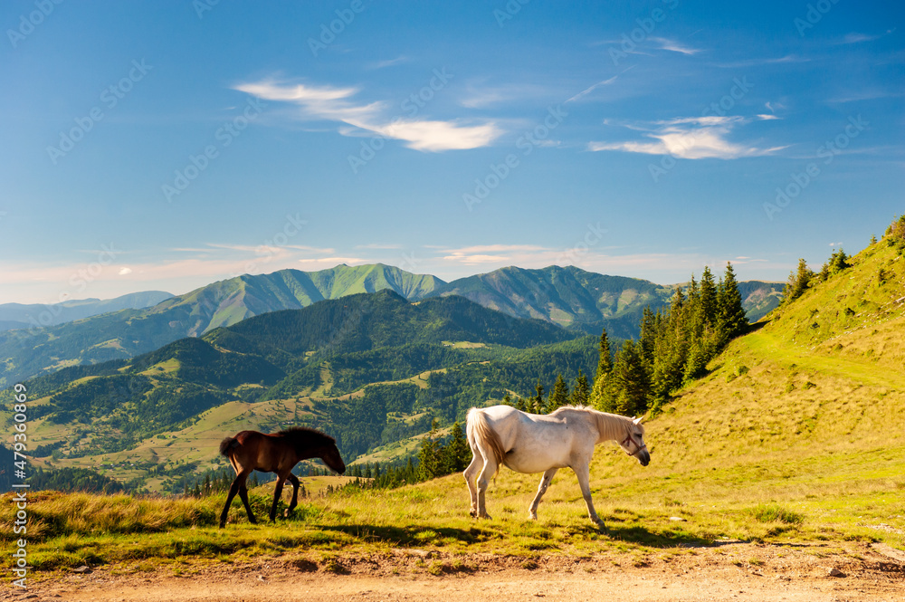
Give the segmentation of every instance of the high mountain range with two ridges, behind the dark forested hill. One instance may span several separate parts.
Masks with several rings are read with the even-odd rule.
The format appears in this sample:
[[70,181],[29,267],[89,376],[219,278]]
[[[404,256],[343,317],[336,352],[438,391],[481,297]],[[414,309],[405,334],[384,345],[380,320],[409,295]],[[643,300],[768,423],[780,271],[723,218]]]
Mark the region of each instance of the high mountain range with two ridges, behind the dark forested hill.
[[[742,282],[739,288],[749,319],[757,320],[776,306],[782,285]],[[557,266],[508,267],[453,282],[382,263],[246,274],[145,309],[110,311],[40,330],[0,332],[0,387],[67,366],[132,358],[262,313],[384,290],[408,301],[459,295],[511,316],[593,334],[605,327],[614,337],[630,338],[638,334],[643,308],[664,306],[674,287]],[[137,299],[148,294],[167,293],[137,293]]]

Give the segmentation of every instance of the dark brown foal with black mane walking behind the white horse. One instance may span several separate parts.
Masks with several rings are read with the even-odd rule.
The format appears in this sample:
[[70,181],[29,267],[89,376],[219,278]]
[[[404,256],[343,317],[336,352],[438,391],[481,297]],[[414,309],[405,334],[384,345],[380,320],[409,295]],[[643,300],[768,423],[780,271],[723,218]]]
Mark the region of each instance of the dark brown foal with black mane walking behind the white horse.
[[292,469],[301,460],[320,458],[337,473],[346,472],[346,463],[339,455],[336,440],[313,428],[293,426],[273,435],[257,431],[243,431],[234,437],[226,437],[220,443],[220,454],[229,458],[235,470],[235,479],[229,488],[224,511],[220,514],[221,529],[226,524],[229,506],[238,493],[248,512],[248,520],[257,523],[252,507],[248,504],[248,488],[245,480],[252,471],[277,473],[277,484],[273,490],[271,506],[271,522],[276,521],[277,502],[280,501],[282,486],[287,480],[292,483],[292,502],[284,516],[289,516],[299,502],[299,478],[292,474]]

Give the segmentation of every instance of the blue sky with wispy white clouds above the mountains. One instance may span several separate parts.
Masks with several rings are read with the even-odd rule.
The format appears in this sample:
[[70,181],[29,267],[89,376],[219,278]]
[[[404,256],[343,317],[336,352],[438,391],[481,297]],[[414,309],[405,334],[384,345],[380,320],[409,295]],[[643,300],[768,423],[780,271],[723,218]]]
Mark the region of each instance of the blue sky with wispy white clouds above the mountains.
[[784,280],[901,214],[892,3],[4,3],[0,302],[389,263]]

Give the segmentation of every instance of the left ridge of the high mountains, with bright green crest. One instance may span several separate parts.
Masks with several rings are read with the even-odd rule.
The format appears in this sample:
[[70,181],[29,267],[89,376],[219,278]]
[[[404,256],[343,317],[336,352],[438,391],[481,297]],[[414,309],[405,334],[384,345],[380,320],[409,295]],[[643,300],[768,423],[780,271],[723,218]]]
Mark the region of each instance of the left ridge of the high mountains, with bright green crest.
[[131,358],[268,311],[385,289],[417,300],[442,283],[379,263],[338,265],[321,272],[246,274],[146,310],[114,311],[43,330],[0,332],[0,386],[75,364]]

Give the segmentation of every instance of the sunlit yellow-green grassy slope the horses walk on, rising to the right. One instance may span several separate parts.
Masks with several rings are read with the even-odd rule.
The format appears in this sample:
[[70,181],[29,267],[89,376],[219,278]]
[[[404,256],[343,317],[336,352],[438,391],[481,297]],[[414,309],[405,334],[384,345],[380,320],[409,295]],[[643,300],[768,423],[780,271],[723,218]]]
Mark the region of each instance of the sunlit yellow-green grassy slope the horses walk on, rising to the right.
[[[650,466],[613,444],[598,448],[592,492],[605,533],[586,519],[569,471],[557,475],[538,521],[528,521],[539,477],[504,469],[488,492],[490,521],[468,517],[460,475],[309,499],[296,520],[275,527],[248,525],[236,505],[237,526],[223,531],[214,528],[223,496],[43,493],[30,561],[40,569],[265,554],[341,570],[342,555],[413,547],[443,552],[423,565],[441,574],[457,570],[464,552],[512,554],[529,567],[544,554],[609,551],[643,565],[736,540],[823,542],[826,553],[851,540],[905,549],[905,261],[881,242],[852,263],[731,341],[706,377],[648,421]],[[259,515],[266,493],[254,498]],[[6,542],[13,512],[0,504]],[[757,559],[737,560],[757,568]]]

